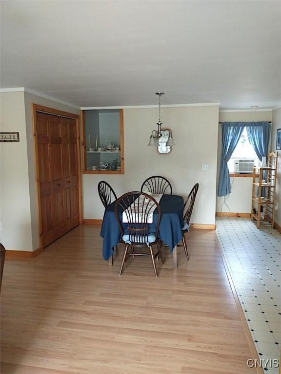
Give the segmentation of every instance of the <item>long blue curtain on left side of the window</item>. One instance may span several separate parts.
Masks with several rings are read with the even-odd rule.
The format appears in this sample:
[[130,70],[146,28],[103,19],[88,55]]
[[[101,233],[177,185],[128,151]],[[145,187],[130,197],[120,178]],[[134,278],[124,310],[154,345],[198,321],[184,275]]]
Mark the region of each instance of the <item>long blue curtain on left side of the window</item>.
[[222,153],[221,153],[221,168],[219,177],[218,196],[226,196],[231,193],[231,185],[229,178],[229,170],[227,163],[231,158],[235,147],[241,137],[244,122],[223,122],[222,128]]

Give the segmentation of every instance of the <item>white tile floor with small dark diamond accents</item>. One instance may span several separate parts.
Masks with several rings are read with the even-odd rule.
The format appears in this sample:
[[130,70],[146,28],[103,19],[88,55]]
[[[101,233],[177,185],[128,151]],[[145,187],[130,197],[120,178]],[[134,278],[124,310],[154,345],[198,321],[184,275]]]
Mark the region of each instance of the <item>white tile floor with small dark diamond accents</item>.
[[[217,235],[261,358],[281,354],[281,234],[248,218],[217,217]],[[264,373],[278,369],[263,366]]]

